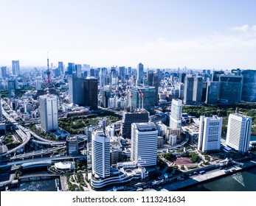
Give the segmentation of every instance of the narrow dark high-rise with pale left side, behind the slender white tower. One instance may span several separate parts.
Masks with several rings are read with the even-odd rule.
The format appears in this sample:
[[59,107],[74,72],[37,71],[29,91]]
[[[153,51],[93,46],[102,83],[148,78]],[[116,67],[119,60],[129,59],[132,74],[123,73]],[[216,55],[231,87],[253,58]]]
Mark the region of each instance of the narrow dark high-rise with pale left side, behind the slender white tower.
[[193,104],[193,88],[195,78],[193,76],[186,76],[184,82],[184,104]]

